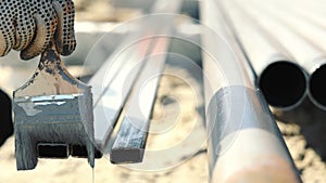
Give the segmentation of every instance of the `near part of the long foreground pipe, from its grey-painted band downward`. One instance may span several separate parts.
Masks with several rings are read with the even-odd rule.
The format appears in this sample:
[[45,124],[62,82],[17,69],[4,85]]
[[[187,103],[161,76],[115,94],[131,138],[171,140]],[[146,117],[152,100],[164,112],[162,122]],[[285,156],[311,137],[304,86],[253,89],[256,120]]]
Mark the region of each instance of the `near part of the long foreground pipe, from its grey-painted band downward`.
[[[296,170],[262,94],[243,86],[218,90],[206,120],[211,182],[296,183]],[[236,115],[235,115],[236,114]],[[237,166],[235,166],[237,165]]]

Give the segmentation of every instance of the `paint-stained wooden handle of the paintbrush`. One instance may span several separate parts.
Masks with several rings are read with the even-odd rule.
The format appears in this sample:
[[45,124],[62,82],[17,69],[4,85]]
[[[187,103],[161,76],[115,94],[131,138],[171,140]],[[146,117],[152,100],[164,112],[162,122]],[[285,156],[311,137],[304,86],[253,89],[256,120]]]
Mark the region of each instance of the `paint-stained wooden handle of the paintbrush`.
[[55,40],[52,39],[42,52],[34,76],[14,92],[14,96],[76,94],[87,88],[67,71],[57,51]]

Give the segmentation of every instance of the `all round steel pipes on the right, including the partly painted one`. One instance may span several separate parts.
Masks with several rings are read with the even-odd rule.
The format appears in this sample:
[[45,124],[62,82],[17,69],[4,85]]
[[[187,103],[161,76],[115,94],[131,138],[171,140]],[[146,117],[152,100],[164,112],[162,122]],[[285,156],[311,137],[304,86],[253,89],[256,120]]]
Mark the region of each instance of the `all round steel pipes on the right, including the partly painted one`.
[[201,1],[211,182],[302,182],[268,104],[292,109],[309,95],[325,109],[326,24],[300,11],[309,4]]

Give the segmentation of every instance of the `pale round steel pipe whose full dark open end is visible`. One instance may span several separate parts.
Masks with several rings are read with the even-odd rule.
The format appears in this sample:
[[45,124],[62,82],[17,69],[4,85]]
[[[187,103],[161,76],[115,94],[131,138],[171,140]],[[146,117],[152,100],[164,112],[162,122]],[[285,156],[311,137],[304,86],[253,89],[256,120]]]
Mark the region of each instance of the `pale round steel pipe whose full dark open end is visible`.
[[306,73],[278,41],[271,40],[262,28],[246,16],[233,1],[223,1],[223,12],[242,45],[256,84],[273,107],[292,109],[306,95]]

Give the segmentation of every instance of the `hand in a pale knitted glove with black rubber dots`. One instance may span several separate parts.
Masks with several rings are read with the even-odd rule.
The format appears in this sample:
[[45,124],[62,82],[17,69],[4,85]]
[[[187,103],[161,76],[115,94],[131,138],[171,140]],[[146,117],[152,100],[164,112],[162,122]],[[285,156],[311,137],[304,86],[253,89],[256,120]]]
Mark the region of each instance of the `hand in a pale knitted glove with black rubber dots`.
[[0,56],[11,49],[21,58],[40,54],[55,39],[60,54],[76,48],[72,0],[0,0]]

